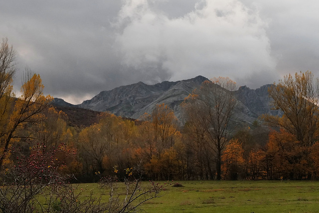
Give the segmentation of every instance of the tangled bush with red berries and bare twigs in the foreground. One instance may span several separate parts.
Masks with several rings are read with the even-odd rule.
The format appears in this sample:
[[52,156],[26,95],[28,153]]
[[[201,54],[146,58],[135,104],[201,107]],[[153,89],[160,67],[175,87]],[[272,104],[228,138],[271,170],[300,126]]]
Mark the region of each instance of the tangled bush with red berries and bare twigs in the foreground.
[[[100,190],[108,190],[107,202],[90,196],[84,190],[77,192],[70,184],[70,177],[58,173],[57,152],[65,151],[62,144],[46,152],[43,144],[32,148],[31,154],[25,156],[19,150],[16,165],[2,169],[0,172],[0,212],[2,213],[128,213],[135,212],[144,202],[159,197],[162,186],[150,182],[149,187],[142,187],[143,171],[139,166],[126,169],[127,177],[120,181],[117,176],[100,179]],[[125,198],[120,199],[118,185],[125,185]],[[44,199],[44,202],[43,202]]]

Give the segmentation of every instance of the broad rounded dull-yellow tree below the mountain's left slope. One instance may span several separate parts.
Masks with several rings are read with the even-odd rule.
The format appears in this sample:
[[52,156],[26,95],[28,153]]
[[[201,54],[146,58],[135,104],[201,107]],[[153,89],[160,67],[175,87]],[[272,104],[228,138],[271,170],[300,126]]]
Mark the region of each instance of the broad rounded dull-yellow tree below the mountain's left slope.
[[86,175],[92,176],[95,172],[109,174],[115,165],[120,171],[133,166],[134,134],[133,121],[107,112],[101,114],[99,123],[83,129],[77,146]]

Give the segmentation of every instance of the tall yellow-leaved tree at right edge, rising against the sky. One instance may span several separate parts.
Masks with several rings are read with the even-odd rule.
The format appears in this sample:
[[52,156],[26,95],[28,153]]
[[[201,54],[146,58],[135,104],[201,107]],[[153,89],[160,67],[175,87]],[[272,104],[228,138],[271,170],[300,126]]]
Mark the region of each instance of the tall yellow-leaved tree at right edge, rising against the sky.
[[262,117],[268,125],[281,129],[270,134],[272,147],[276,148],[274,157],[278,157],[278,165],[285,166],[287,174],[279,173],[284,178],[310,179],[315,174],[310,168],[310,155],[319,140],[319,79],[309,71],[289,74],[269,89],[269,95],[274,108],[283,111],[282,117]]

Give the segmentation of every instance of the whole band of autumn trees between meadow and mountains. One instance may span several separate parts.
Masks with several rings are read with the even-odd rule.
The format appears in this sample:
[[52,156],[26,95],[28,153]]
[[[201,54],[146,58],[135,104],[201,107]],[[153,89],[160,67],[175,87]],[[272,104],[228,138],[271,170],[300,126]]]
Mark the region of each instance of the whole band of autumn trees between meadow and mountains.
[[54,172],[83,183],[125,177],[139,165],[145,180],[319,178],[319,81],[311,72],[288,74],[269,89],[282,117],[265,114],[247,126],[232,123],[236,83],[218,77],[181,104],[184,125],[163,103],[139,120],[103,112],[88,127],[69,126],[68,115],[51,106],[40,76],[28,68],[15,97],[15,72],[15,51],[2,39],[1,175]]

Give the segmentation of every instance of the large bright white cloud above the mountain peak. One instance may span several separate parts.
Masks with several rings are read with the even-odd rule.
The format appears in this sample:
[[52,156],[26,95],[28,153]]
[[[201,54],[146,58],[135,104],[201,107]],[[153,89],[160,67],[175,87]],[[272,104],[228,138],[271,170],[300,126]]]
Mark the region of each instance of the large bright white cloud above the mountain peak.
[[275,70],[267,23],[238,0],[201,0],[174,18],[148,0],[126,0],[117,26],[122,62],[146,73],[167,70],[171,80],[197,74],[236,80]]

